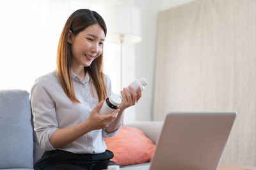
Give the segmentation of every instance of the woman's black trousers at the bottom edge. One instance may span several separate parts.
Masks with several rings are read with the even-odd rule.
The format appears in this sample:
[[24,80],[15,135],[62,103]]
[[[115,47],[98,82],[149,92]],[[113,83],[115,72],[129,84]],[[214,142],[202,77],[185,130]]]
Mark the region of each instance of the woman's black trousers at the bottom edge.
[[79,154],[64,150],[52,150],[44,152],[42,158],[36,161],[35,170],[101,170],[108,169],[108,165],[115,165],[109,159],[114,157],[113,153],[106,150],[98,154]]

